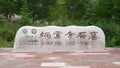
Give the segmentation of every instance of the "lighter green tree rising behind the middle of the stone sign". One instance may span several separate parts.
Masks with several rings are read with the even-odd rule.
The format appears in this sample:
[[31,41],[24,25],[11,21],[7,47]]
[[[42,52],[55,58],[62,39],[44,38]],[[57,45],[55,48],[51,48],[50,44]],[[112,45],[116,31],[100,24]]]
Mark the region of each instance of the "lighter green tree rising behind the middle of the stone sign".
[[68,11],[65,0],[56,0],[55,6],[49,7],[48,18],[53,25],[65,26],[65,23],[67,23],[65,21],[68,20]]

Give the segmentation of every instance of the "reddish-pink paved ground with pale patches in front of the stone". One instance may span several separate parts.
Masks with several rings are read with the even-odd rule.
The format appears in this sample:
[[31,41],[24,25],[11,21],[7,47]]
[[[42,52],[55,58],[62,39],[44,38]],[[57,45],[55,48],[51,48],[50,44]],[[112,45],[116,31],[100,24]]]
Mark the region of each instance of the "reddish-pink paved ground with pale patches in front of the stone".
[[120,68],[120,49],[104,51],[13,51],[0,49],[0,68]]

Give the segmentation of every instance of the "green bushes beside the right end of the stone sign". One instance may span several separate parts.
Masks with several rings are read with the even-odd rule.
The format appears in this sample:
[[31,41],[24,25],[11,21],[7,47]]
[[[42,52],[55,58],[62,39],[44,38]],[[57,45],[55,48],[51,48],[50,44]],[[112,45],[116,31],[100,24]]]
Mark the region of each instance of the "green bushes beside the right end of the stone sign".
[[109,22],[106,24],[106,22],[101,23],[98,22],[96,26],[99,26],[103,29],[106,37],[106,46],[113,47],[113,46],[120,46],[120,26],[116,23]]

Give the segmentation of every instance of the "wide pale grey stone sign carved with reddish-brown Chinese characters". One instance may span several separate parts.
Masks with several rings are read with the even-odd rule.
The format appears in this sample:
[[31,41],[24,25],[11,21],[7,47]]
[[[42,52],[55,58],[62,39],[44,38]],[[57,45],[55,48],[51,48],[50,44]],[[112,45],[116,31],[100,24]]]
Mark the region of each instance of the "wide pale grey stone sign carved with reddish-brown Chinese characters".
[[21,27],[14,50],[104,50],[105,35],[96,26]]

